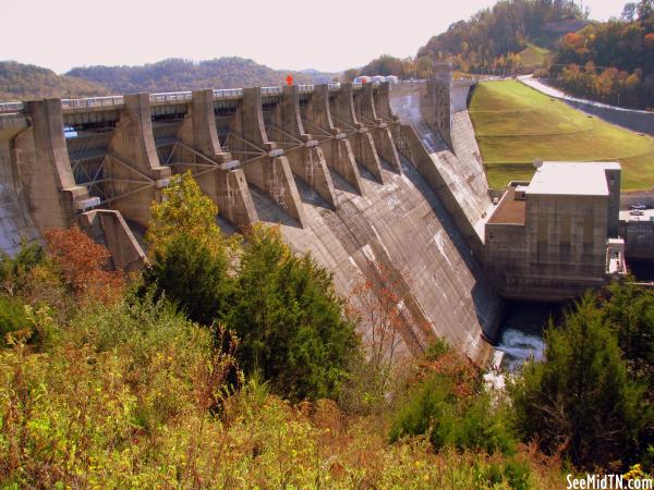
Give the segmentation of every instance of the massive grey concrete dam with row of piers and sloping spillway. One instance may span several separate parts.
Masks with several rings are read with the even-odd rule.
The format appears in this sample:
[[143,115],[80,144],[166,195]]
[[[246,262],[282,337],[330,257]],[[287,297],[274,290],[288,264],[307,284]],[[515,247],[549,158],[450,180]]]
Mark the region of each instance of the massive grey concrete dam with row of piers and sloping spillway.
[[0,247],[77,223],[116,267],[138,268],[150,204],[191,170],[225,230],[279,224],[341,295],[392,281],[405,351],[439,335],[486,364],[501,299],[483,268],[493,203],[469,89],[445,66],[392,85],[0,105]]

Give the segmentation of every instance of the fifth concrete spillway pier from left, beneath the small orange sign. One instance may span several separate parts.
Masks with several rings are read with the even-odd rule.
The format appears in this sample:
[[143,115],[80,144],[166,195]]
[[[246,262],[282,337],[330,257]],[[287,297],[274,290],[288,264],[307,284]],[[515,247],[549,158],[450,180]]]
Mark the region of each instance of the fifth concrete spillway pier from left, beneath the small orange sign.
[[[293,173],[306,182],[332,208],[337,207],[331,174],[318,140],[304,132],[300,114],[300,93],[296,85],[282,88],[280,103],[274,114],[274,134],[283,145]],[[283,143],[280,143],[283,142]]]

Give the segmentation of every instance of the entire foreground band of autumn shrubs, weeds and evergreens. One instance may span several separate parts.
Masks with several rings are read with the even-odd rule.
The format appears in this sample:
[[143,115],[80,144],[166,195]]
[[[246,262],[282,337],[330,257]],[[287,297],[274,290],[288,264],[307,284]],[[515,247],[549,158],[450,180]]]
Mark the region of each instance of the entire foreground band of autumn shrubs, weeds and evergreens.
[[441,340],[395,364],[359,340],[355,324],[389,333],[391,292],[362,282],[356,315],[275,229],[221,235],[189,174],[166,194],[140,275],[107,270],[76,229],[0,261],[2,488],[541,489],[651,471],[653,294],[589,297],[544,363],[489,391]]

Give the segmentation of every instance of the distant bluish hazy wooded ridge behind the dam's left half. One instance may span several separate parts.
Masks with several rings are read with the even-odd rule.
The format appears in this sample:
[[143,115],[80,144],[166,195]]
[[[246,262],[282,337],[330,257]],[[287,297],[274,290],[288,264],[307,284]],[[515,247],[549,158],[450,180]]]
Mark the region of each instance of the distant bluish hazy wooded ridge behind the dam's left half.
[[113,93],[135,93],[281,85],[289,73],[295,83],[326,83],[336,76],[315,71],[272,70],[243,58],[199,62],[168,59],[142,66],[84,66],[66,75],[102,84]]

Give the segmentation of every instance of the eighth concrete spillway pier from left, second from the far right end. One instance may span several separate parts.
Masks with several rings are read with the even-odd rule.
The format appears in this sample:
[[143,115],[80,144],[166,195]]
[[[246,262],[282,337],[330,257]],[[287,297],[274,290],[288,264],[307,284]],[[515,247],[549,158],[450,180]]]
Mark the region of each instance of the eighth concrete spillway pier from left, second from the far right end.
[[374,89],[375,86],[373,84],[363,84],[361,93],[354,96],[354,108],[358,119],[370,128],[379,157],[390,163],[390,167],[398,173],[402,173],[400,157],[398,156],[390,127],[387,122],[377,117]]

